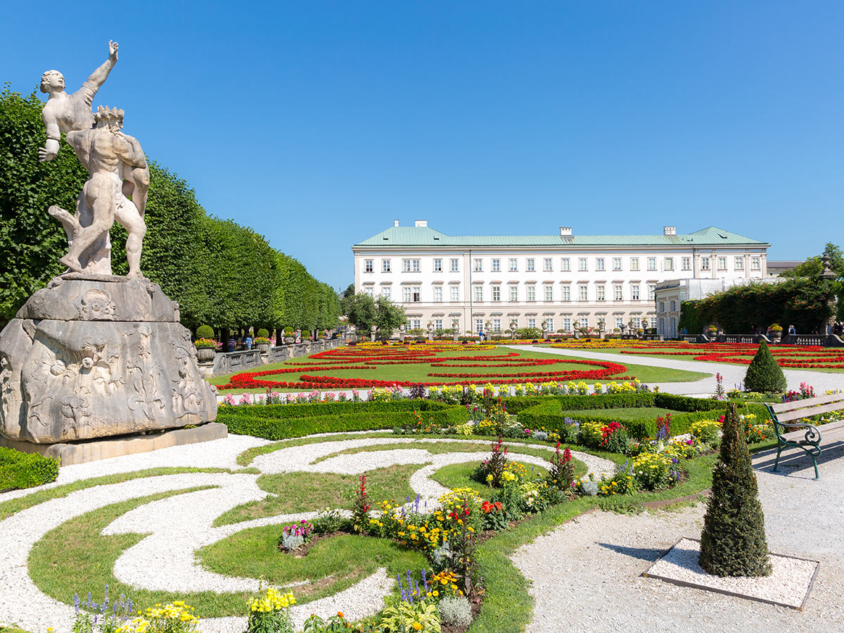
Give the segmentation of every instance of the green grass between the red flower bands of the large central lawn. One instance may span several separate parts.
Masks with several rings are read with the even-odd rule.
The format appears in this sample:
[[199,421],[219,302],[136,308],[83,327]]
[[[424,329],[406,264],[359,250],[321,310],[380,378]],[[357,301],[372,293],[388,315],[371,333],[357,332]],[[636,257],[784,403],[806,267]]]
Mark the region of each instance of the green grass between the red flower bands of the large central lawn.
[[[552,360],[560,360],[560,354],[543,354],[538,352],[526,352],[522,349],[517,348],[507,348],[507,347],[500,347],[497,349],[473,349],[473,346],[466,346],[461,347],[457,350],[448,350],[447,352],[441,352],[440,354],[436,354],[433,356],[433,360],[454,360],[459,361],[462,357],[465,356],[495,356],[500,354],[506,354],[510,351],[517,351],[522,358],[528,359],[552,359]],[[576,357],[565,357],[566,360],[587,360],[587,359],[580,359]],[[296,364],[300,364],[302,362],[306,362],[307,359],[298,358],[293,360],[285,360],[282,363],[272,363],[270,365],[262,365],[257,370],[251,371],[270,371],[274,369],[283,369],[288,367],[296,367]],[[324,362],[321,360],[314,360],[315,363]],[[476,361],[471,361],[476,362]],[[496,361],[497,362],[497,361]],[[619,361],[620,362],[620,361]],[[706,378],[707,376],[711,376],[711,374],[700,372],[700,371],[681,371],[681,370],[672,370],[672,369],[665,369],[661,367],[649,367],[647,365],[629,365],[626,362],[622,363],[627,367],[627,371],[623,374],[625,376],[636,376],[642,382],[677,382],[677,381],[696,381],[700,380],[701,378]],[[539,366],[529,366],[529,367],[430,367],[427,364],[414,364],[414,365],[376,365],[375,369],[370,370],[343,370],[343,369],[333,369],[329,370],[328,368],[323,369],[321,371],[303,371],[303,374],[307,374],[309,376],[337,376],[342,378],[363,378],[363,379],[371,379],[371,380],[379,380],[379,381],[413,381],[413,382],[433,382],[433,381],[443,381],[443,382],[453,382],[460,380],[459,378],[444,378],[444,377],[435,377],[435,376],[428,376],[429,373],[466,373],[466,374],[477,374],[479,383],[484,381],[484,375],[495,373],[495,374],[514,374],[519,373],[522,371],[557,371],[557,370],[576,370],[576,369],[583,369],[583,370],[592,370],[596,369],[594,365],[575,365],[571,363],[559,364],[559,365],[539,365]],[[235,372],[235,373],[242,373],[242,372]],[[213,378],[209,378],[208,382],[212,385],[225,385],[230,381],[231,376],[234,374],[227,374],[225,376],[214,376]],[[267,380],[270,381],[296,381],[300,374],[291,373],[291,374],[279,374],[276,376],[267,376]],[[501,379],[500,376],[496,376],[496,379]],[[603,379],[600,382],[606,382],[609,379]],[[595,381],[587,381],[589,383]],[[227,390],[228,391],[228,390]],[[266,388],[257,388],[257,389],[233,389],[230,391],[233,395],[237,395],[240,393],[263,393],[266,392]],[[273,388],[275,392],[293,392],[293,391],[303,391],[302,388],[298,389],[291,389],[291,388]],[[328,391],[336,391],[336,390],[328,390]]]

